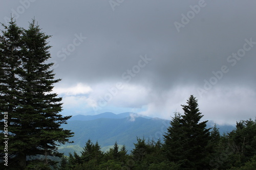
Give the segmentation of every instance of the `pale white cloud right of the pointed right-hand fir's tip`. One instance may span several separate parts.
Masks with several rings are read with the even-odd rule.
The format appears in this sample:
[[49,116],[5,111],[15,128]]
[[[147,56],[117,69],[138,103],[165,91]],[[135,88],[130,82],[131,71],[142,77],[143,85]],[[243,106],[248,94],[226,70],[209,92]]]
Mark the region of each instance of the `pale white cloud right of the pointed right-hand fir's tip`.
[[255,91],[247,87],[220,86],[199,100],[199,108],[206,119],[219,124],[234,124],[255,118],[255,96]]

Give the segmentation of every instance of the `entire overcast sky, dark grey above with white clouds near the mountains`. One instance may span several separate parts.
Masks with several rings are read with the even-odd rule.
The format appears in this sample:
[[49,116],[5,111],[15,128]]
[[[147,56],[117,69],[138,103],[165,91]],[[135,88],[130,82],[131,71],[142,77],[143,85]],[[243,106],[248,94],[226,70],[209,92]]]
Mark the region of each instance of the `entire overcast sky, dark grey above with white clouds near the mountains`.
[[[256,112],[255,1],[1,1],[0,22],[36,19],[52,35],[63,115],[137,112],[170,119],[190,94],[203,119]],[[3,29],[3,28],[1,28]]]

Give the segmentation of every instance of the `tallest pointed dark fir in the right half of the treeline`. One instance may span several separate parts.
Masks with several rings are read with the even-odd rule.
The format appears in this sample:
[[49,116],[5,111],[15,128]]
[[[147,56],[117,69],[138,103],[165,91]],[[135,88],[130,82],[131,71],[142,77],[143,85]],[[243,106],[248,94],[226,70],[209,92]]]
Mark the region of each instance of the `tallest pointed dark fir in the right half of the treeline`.
[[204,169],[209,166],[208,157],[208,142],[210,140],[210,128],[206,128],[206,123],[200,122],[203,117],[199,112],[198,100],[190,95],[187,100],[187,105],[181,105],[184,110],[181,123],[184,131],[184,153],[187,159],[186,165],[189,169]]

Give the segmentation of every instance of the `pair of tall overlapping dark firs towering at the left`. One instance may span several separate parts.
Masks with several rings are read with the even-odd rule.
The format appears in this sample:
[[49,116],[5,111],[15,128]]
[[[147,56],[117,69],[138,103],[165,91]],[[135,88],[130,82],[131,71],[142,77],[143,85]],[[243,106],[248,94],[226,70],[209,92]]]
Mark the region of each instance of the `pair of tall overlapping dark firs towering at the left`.
[[22,29],[11,20],[1,36],[1,115],[8,112],[9,154],[11,164],[25,168],[26,157],[45,155],[61,156],[57,146],[69,142],[70,130],[60,128],[71,116],[62,116],[61,98],[52,93],[54,80],[53,63],[47,39],[32,20],[29,28]]

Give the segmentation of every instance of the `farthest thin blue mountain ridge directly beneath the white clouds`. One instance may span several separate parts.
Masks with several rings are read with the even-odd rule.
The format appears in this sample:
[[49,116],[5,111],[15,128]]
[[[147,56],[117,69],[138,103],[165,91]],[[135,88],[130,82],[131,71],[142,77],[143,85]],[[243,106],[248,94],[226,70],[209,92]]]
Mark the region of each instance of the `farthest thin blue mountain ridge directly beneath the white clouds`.
[[100,114],[96,114],[96,115],[82,115],[82,114],[78,114],[75,116],[72,116],[68,121],[73,121],[73,120],[95,120],[98,118],[126,118],[126,117],[143,117],[143,118],[152,118],[152,117],[148,117],[148,116],[144,116],[138,113],[133,113],[133,112],[124,112],[124,113],[120,113],[120,114],[115,114],[112,112],[104,112],[104,113],[100,113]]

